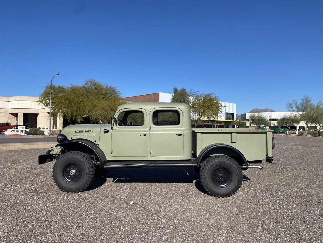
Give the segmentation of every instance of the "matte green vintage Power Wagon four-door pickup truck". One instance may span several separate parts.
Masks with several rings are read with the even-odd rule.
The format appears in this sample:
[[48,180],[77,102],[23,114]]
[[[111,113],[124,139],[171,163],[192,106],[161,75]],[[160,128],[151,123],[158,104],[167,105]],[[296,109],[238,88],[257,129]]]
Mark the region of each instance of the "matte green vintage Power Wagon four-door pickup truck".
[[212,196],[229,197],[242,170],[273,161],[272,131],[192,129],[183,103],[127,103],[111,124],[71,125],[38,164],[55,160],[53,179],[65,192],[88,188],[96,171],[131,168],[194,168]]

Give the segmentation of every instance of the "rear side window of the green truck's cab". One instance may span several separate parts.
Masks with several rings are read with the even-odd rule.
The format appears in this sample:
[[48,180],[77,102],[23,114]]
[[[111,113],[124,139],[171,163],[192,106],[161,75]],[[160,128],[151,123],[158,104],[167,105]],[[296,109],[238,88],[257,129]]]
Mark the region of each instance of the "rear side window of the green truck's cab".
[[176,126],[180,122],[178,110],[155,110],[152,113],[152,124],[155,126]]

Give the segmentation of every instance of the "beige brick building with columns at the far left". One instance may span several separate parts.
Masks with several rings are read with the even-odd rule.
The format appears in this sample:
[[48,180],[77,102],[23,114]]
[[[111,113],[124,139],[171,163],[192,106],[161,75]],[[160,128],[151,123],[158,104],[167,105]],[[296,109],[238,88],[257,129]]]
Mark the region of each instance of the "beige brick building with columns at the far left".
[[[0,96],[0,122],[49,129],[49,108],[39,104],[38,97]],[[52,116],[52,129],[62,129],[63,119]],[[46,134],[46,133],[45,133]]]

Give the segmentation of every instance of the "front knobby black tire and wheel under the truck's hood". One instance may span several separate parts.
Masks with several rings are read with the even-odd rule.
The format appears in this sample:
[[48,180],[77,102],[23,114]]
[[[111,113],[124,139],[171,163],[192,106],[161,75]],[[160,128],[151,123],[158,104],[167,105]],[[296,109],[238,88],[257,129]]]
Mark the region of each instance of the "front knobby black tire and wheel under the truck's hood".
[[71,151],[60,156],[53,166],[53,180],[65,192],[80,192],[89,187],[95,168],[89,156]]

